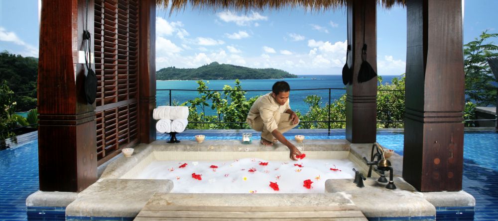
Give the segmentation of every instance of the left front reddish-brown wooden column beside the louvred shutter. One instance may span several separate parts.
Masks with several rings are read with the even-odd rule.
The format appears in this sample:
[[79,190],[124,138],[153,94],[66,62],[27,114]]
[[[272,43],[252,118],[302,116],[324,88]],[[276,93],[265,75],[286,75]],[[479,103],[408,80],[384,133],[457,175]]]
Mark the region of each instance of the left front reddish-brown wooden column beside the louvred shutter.
[[[89,0],[92,32],[93,4]],[[78,51],[83,50],[85,5],[85,0],[42,1],[38,63],[41,191],[79,192],[97,180],[95,104],[85,99],[85,69],[77,64]]]

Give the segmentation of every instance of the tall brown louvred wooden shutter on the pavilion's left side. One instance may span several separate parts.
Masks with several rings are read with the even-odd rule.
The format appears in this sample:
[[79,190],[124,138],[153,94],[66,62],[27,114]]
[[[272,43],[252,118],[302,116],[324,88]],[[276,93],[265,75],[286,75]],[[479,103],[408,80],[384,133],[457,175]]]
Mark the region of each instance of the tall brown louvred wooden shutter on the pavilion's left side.
[[138,139],[138,0],[95,0],[98,164]]

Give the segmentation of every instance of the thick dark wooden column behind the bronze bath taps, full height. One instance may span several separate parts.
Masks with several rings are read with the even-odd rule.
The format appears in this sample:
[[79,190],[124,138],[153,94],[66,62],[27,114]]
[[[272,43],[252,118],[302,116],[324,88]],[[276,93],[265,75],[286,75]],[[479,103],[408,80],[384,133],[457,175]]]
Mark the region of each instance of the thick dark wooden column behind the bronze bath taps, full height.
[[407,1],[403,178],[418,190],[462,189],[462,2]]

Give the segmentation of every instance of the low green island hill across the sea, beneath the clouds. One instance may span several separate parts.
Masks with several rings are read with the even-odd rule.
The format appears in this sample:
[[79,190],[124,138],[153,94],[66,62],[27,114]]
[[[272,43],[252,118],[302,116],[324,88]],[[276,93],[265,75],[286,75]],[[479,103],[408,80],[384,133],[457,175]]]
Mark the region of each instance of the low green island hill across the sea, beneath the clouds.
[[196,69],[163,68],[156,72],[157,80],[226,80],[297,78],[278,69],[252,69],[213,62]]

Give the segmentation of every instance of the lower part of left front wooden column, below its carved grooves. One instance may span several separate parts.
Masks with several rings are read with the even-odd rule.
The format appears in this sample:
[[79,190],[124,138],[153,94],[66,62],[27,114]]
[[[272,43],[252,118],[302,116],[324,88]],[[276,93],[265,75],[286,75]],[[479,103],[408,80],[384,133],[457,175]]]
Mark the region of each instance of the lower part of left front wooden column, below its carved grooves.
[[[95,112],[39,116],[41,191],[80,192],[97,180]],[[90,139],[93,138],[93,139]]]

